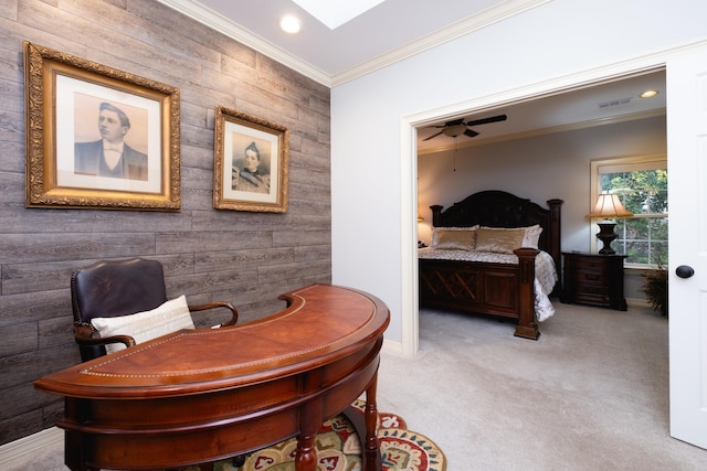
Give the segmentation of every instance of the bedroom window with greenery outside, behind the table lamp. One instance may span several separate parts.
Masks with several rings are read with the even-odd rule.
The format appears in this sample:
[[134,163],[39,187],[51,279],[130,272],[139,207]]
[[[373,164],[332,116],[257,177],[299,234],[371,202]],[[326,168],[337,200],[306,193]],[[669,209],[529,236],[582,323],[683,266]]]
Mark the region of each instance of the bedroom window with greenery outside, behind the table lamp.
[[[591,201],[601,192],[615,193],[633,213],[633,217],[616,220],[612,248],[627,255],[627,265],[667,265],[666,156],[597,160],[591,167]],[[595,237],[592,248],[595,251]]]

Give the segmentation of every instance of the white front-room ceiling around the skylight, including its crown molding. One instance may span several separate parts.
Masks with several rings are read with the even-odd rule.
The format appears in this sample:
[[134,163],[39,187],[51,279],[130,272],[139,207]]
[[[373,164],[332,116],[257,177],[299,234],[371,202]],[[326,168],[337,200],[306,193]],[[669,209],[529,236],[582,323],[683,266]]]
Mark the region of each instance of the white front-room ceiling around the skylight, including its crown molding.
[[[292,0],[159,1],[336,86],[549,0],[386,0],[334,30]],[[302,22],[296,35],[279,29],[286,14]]]

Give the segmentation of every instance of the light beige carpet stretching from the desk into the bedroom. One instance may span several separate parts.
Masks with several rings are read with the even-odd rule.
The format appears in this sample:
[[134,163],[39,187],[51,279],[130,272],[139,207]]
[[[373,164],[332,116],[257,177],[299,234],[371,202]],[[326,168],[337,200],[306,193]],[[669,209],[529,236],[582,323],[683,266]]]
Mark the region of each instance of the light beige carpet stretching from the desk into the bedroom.
[[423,310],[419,355],[381,360],[379,408],[434,437],[450,471],[707,470],[669,437],[667,320],[553,304],[537,342]]

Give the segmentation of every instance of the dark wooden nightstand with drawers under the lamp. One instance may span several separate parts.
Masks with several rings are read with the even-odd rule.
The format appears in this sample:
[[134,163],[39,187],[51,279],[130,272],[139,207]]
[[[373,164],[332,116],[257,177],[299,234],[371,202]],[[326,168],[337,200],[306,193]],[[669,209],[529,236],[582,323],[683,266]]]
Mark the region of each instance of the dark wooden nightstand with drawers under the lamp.
[[562,302],[626,310],[623,297],[625,255],[563,251]]

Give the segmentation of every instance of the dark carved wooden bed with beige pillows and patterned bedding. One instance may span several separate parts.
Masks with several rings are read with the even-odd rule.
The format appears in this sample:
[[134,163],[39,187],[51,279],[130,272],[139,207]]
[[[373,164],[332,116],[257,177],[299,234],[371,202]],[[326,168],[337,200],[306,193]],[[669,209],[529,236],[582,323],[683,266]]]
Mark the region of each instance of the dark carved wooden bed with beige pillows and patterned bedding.
[[419,249],[420,307],[516,321],[537,340],[555,313],[562,200],[542,207],[503,191],[474,193],[432,210],[432,242]]

